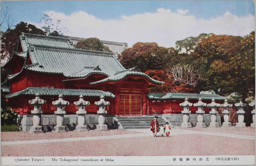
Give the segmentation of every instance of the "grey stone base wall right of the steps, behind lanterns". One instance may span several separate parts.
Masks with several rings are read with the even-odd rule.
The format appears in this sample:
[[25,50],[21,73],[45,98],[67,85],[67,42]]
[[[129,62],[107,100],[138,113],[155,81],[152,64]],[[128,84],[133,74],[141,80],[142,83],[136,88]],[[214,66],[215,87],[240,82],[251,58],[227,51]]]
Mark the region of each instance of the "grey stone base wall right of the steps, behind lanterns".
[[[181,126],[183,122],[183,114],[163,114],[173,126]],[[204,123],[206,126],[209,126],[211,122],[211,114],[204,114]],[[217,114],[217,122],[221,125],[220,114]],[[197,114],[189,114],[189,123],[192,124],[192,127],[196,126],[197,123]]]

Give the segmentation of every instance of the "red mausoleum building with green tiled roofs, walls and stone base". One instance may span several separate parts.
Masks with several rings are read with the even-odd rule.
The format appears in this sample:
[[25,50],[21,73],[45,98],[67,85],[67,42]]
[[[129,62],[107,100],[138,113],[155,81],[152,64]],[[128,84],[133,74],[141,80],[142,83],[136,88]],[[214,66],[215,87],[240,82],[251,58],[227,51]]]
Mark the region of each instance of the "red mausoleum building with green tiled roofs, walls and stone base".
[[[10,83],[6,98],[9,106],[18,112],[20,129],[22,127],[23,131],[28,131],[33,125],[33,106],[28,101],[35,99],[36,93],[39,93],[40,99],[46,100],[42,105],[44,130],[51,130],[56,125],[54,111],[57,107],[52,101],[57,100],[60,94],[70,103],[64,115],[64,125],[68,130],[73,130],[77,125],[78,106],[73,103],[79,100],[80,95],[90,102],[85,115],[88,128],[95,128],[98,123],[99,107],[94,102],[103,95],[105,101],[110,102],[106,107],[108,128],[119,129],[129,128],[129,125],[133,128],[132,123],[143,128],[145,126],[140,122],[148,121],[143,117],[151,118],[153,115],[160,115],[160,123],[169,120],[172,125],[180,125],[183,110],[180,103],[185,98],[190,103],[196,103],[201,98],[207,104],[212,99],[216,103],[223,103],[225,99],[216,94],[148,93],[148,88],[163,82],[138,71],[136,67],[125,69],[116,53],[75,49],[72,38],[22,33],[17,52],[4,68],[12,70],[12,75],[8,75],[6,80]],[[192,114],[196,117],[197,107],[191,106],[190,111],[190,120],[195,126],[196,119]],[[209,125],[211,108],[205,107],[204,111],[204,121]],[[132,123],[122,123],[125,117],[132,119]],[[217,122],[220,123],[220,115]]]

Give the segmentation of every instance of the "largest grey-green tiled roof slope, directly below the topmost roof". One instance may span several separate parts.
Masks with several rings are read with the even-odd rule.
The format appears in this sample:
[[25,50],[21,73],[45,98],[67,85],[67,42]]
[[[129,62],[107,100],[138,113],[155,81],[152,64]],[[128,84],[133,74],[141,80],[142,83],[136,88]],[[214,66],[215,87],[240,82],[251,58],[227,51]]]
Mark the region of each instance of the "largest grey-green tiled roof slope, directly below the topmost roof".
[[[24,69],[36,72],[85,77],[92,73],[109,76],[124,70],[115,54],[109,52],[42,45],[30,45],[28,51],[32,64]],[[15,76],[10,75],[9,79]]]

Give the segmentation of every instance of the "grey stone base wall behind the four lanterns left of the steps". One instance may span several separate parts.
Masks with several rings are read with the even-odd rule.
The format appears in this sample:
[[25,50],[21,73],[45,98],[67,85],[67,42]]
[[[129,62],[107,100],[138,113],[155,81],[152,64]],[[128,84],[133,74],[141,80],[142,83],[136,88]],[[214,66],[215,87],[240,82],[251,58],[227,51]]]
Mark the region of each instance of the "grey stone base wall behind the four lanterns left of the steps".
[[[41,115],[44,131],[51,131],[54,126],[56,126],[56,116],[57,115]],[[85,115],[85,123],[89,130],[96,129],[98,123],[99,115]],[[118,129],[118,124],[114,118],[114,115],[106,115],[106,124],[108,129]],[[75,130],[78,115],[64,115],[64,125],[67,130]],[[18,115],[18,127],[20,131],[29,131],[30,127],[33,126],[33,115]]]

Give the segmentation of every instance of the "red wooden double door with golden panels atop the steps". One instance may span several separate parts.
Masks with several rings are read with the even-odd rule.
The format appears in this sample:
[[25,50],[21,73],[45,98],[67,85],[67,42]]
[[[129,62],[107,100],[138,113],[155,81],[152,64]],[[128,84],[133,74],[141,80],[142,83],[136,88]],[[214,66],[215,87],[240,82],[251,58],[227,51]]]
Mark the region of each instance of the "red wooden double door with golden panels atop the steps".
[[119,115],[141,115],[141,94],[119,94]]

